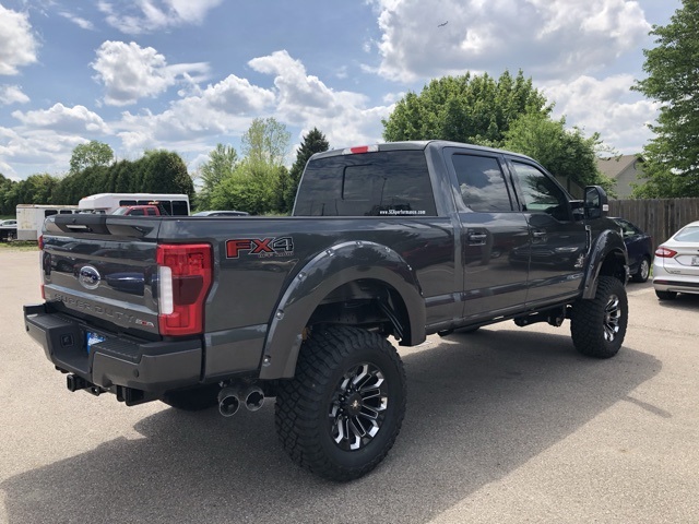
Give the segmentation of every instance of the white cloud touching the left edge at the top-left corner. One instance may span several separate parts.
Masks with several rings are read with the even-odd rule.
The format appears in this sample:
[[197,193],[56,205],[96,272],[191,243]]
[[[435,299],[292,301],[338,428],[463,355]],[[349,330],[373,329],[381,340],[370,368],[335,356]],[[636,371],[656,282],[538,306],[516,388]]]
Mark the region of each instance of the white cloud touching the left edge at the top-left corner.
[[0,74],[17,74],[17,68],[36,62],[37,48],[28,15],[0,4]]

